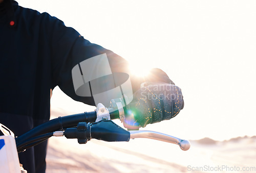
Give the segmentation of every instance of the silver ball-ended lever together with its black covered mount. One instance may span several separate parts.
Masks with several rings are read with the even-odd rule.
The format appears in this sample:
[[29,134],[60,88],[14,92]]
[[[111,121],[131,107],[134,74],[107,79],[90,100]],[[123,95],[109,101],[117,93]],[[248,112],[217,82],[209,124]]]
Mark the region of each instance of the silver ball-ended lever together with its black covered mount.
[[129,141],[134,138],[149,138],[178,144],[183,151],[187,151],[190,147],[190,142],[188,140],[182,140],[174,136],[154,131],[126,131],[116,125],[112,120],[100,120],[88,124],[86,122],[79,122],[77,128],[68,128],[61,134],[62,136],[65,135],[67,138],[77,138],[78,143],[87,143],[87,141],[92,138],[109,142]]

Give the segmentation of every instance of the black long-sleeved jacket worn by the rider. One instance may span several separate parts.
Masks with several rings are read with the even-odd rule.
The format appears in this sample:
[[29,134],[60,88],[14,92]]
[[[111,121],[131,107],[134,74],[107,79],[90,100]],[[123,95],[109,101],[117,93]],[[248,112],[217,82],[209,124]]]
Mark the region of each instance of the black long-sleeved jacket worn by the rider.
[[[8,8],[5,0],[0,6],[0,122],[19,136],[49,120],[50,89],[57,85],[74,100],[94,105],[92,97],[75,94],[71,70],[76,64],[103,53],[113,72],[125,71],[127,62],[56,17],[12,4]],[[28,172],[45,171],[46,144],[37,147],[19,155]]]

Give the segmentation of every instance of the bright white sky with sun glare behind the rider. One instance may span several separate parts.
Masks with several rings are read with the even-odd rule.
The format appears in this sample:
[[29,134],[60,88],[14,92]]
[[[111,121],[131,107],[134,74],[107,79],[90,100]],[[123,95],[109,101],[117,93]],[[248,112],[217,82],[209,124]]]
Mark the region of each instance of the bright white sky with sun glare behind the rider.
[[[184,139],[256,135],[255,1],[17,2],[56,16],[135,67],[166,71],[182,88],[185,107],[144,129]],[[58,88],[51,104],[75,112],[93,109]]]

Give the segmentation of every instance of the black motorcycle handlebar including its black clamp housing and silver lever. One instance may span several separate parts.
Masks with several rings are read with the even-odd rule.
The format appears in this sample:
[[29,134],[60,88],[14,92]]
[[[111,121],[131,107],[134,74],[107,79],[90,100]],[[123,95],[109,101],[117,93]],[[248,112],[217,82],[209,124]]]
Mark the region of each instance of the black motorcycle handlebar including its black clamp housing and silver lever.
[[[111,119],[119,118],[119,112],[110,111]],[[182,140],[173,136],[153,131],[126,131],[117,126],[111,120],[101,120],[95,122],[97,118],[96,111],[84,112],[80,114],[58,117],[42,123],[25,134],[16,137],[16,145],[19,152],[26,150],[41,141],[45,140],[44,134],[61,130],[67,138],[77,138],[79,143],[86,143],[91,138],[104,141],[129,141],[130,138],[150,138],[169,143],[178,144],[183,151],[190,147],[188,140]],[[90,122],[90,123],[89,123]],[[77,127],[77,128],[73,128]],[[50,136],[52,136],[52,134]],[[41,136],[40,136],[41,135]],[[53,135],[55,136],[55,135]],[[40,138],[37,142],[35,139]],[[43,138],[44,137],[44,138]],[[41,139],[42,138],[42,139]],[[28,144],[32,141],[34,143]],[[24,145],[28,144],[28,145]]]

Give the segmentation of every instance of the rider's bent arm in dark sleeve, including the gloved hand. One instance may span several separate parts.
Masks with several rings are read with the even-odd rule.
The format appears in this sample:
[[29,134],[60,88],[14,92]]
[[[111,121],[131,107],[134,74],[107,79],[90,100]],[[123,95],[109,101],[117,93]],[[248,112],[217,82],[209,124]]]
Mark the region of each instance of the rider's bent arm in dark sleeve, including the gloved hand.
[[[52,52],[52,87],[58,85],[73,100],[89,105],[104,103],[103,105],[108,107],[111,99],[122,97],[124,89],[127,89],[127,86],[123,87],[121,84],[131,80],[129,85],[132,86],[132,92],[129,93],[130,95],[135,93],[135,95],[133,102],[130,101],[134,105],[133,110],[141,115],[135,116],[140,126],[145,127],[148,123],[170,119],[183,108],[180,88],[174,85],[164,71],[155,68],[145,78],[132,76],[125,59],[84,39],[74,29],[65,27],[63,22],[57,19],[53,29]],[[106,76],[102,76],[104,72]],[[95,73],[99,74],[95,75]],[[116,79],[114,73],[126,73],[130,80],[126,81],[125,75]],[[97,76],[101,78],[97,80]],[[112,81],[112,78],[114,78],[114,87],[111,82],[108,82],[108,80]],[[141,87],[143,82],[154,83],[160,86],[160,89],[163,87],[164,90],[155,91],[155,86]],[[122,88],[121,91],[119,87]],[[87,89],[89,89],[88,92],[86,92]],[[102,92],[98,92],[99,90]],[[105,94],[107,90],[110,92]],[[161,96],[155,99],[156,94]],[[172,96],[175,97],[172,98]]]

